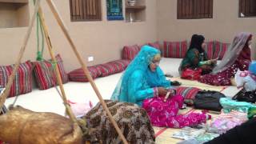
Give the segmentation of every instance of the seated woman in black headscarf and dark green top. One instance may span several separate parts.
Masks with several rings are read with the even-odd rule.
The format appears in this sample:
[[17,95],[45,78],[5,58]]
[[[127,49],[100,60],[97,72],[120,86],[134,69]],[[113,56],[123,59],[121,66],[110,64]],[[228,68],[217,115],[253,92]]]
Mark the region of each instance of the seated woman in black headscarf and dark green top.
[[[202,35],[194,34],[191,38],[190,48],[186,51],[185,58],[183,58],[181,65],[179,66],[179,72],[182,74],[186,70],[202,70],[201,74],[209,74],[217,60],[208,60],[206,51],[202,49],[206,44],[204,42],[205,38]],[[199,78],[199,77],[198,77]]]

